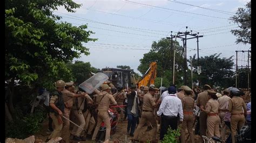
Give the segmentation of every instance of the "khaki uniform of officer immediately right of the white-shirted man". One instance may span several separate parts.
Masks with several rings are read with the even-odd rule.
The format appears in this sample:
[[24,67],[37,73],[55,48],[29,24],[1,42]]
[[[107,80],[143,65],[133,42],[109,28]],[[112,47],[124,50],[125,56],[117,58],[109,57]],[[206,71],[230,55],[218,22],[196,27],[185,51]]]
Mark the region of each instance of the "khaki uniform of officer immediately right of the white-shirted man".
[[194,99],[188,95],[181,99],[183,106],[183,122],[181,126],[181,143],[186,142],[185,131],[187,128],[188,134],[190,135],[191,142],[194,143],[194,132],[193,132],[193,123],[194,123]]

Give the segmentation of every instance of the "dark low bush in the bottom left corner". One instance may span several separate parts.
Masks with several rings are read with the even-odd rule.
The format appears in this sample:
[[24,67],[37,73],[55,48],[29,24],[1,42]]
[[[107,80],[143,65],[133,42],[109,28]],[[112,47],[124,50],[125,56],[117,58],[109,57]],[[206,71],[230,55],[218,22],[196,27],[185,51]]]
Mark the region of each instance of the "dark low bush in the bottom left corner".
[[5,123],[5,137],[25,139],[41,130],[46,112],[36,110],[33,114],[19,116],[13,123]]

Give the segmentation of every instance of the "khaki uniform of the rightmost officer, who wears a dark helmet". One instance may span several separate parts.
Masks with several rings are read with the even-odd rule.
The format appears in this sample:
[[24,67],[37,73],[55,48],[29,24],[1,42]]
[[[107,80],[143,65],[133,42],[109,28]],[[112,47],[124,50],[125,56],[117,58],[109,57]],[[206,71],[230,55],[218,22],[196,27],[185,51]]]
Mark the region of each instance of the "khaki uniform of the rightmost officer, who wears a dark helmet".
[[231,112],[231,137],[232,143],[234,143],[237,128],[240,131],[241,127],[245,124],[244,112],[247,111],[247,108],[244,99],[238,96],[232,97],[228,101],[228,110]]

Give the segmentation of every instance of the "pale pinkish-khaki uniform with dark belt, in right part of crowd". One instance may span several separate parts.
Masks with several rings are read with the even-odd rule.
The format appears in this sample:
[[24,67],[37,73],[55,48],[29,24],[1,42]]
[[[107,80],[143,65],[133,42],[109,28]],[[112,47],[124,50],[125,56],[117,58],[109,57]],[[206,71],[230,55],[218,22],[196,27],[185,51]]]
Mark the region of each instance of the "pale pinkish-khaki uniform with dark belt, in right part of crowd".
[[207,137],[212,138],[215,135],[220,138],[219,102],[212,98],[209,99],[206,103],[205,110],[210,112],[207,117]]

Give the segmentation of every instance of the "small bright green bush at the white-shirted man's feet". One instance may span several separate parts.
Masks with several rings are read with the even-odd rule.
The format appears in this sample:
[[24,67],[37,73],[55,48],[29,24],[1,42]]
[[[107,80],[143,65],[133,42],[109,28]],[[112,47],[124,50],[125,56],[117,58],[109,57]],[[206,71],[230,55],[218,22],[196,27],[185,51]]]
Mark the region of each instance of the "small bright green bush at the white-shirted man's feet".
[[176,143],[177,138],[180,136],[180,128],[177,128],[177,130],[172,130],[171,127],[169,126],[167,134],[164,135],[163,141],[161,143]]

